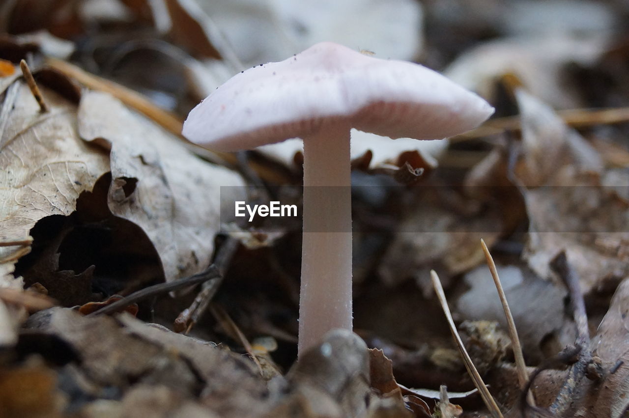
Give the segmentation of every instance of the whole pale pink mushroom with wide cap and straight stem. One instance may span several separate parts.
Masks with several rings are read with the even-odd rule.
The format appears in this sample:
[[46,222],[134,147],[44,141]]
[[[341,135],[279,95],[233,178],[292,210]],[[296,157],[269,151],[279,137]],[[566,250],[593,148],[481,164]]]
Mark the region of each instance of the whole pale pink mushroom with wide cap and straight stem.
[[352,329],[350,129],[436,139],[493,110],[421,65],[330,42],[237,74],[192,109],[184,136],[214,150],[304,141],[298,355],[330,329]]

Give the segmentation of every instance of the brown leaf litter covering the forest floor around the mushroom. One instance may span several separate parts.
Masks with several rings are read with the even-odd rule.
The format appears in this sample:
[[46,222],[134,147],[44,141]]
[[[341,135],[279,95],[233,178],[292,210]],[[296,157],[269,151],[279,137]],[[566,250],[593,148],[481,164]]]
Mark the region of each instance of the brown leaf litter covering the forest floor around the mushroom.
[[[620,2],[470,10],[400,1],[387,13],[330,3],[318,16],[281,2],[42,3],[47,13],[32,3],[0,8],[9,34],[0,58],[11,62],[0,77],[3,414],[489,416],[432,269],[453,332],[501,414],[626,414],[629,69],[615,26],[627,13]],[[342,41],[342,31],[321,28],[336,28],[352,8],[343,26],[361,45],[350,47],[446,70],[498,113],[449,143],[353,144],[353,182],[379,185],[353,196],[357,335],[330,334],[294,364],[299,233],[264,223],[221,229],[220,186],[299,185],[301,144],[245,158],[197,149],[209,163],[181,140],[181,118],[247,57],[257,65],[318,36]],[[402,10],[404,42],[369,41],[387,25],[382,16]],[[249,45],[243,36],[256,26],[247,19],[267,31]],[[521,396],[481,238],[534,377],[536,411]],[[562,251],[572,282],[551,265]],[[196,280],[212,261],[220,278],[199,290],[160,287]],[[149,296],[136,299],[142,290]],[[94,311],[106,304],[138,317]]]

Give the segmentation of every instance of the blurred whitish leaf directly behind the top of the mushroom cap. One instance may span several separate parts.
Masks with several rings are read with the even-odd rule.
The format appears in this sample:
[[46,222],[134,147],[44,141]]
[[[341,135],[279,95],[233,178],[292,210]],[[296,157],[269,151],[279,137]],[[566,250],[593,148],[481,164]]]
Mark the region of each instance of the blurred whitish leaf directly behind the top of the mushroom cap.
[[320,41],[405,60],[415,57],[423,46],[423,11],[420,4],[408,0],[386,6],[372,0],[302,1],[299,6],[284,0],[196,3],[247,67],[282,60]]

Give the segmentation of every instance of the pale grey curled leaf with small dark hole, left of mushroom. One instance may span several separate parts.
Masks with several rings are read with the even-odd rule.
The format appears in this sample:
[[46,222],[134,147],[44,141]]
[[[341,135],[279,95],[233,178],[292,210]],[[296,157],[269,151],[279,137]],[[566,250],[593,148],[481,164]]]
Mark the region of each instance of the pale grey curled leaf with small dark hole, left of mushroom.
[[242,178],[203,162],[108,94],[84,94],[78,119],[84,140],[111,148],[109,209],[142,227],[166,279],[207,267],[220,229],[220,187],[243,185]]

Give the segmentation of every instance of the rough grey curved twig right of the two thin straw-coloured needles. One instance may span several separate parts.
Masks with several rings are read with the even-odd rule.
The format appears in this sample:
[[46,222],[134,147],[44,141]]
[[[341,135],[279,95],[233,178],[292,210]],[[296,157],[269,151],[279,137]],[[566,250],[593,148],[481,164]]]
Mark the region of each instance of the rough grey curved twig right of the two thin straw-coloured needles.
[[561,251],[550,261],[550,268],[559,274],[568,288],[574,322],[576,322],[577,326],[576,346],[582,349],[579,359],[570,368],[568,377],[559,390],[555,402],[548,407],[548,410],[552,414],[560,415],[568,409],[572,399],[574,399],[574,392],[579,382],[581,382],[582,378],[585,376],[587,365],[592,360],[592,355],[589,351],[590,338],[589,330],[587,329],[586,305],[583,300],[581,287],[579,286],[579,276],[574,268],[569,265],[565,250]]

